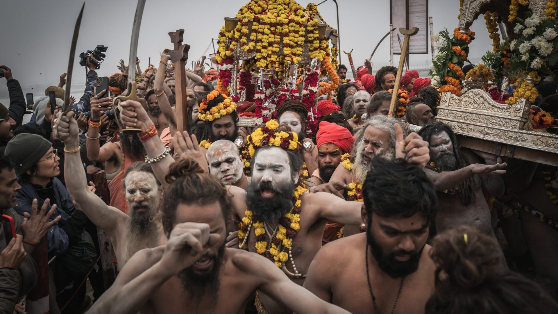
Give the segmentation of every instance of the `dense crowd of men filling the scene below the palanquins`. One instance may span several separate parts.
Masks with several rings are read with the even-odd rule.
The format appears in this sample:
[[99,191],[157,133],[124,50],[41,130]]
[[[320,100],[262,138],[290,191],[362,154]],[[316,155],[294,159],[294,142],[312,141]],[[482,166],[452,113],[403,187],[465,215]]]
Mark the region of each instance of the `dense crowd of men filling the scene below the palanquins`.
[[397,69],[339,65],[313,134],[297,97],[255,127],[206,119],[230,98],[201,60],[180,132],[167,52],[128,65],[145,101],[116,111],[127,67],[99,91],[89,56],[72,110],[62,74],[27,123],[0,66],[0,313],[558,313],[556,167],[461,147],[429,78],[402,75],[391,118]]

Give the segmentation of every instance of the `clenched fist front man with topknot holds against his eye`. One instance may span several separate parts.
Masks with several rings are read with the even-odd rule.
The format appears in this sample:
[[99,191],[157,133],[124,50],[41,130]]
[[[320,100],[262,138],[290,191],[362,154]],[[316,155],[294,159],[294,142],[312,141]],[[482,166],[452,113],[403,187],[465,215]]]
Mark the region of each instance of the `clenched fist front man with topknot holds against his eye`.
[[207,223],[179,223],[172,229],[159,263],[169,274],[177,275],[193,265],[207,252],[207,248],[218,241],[222,241],[221,236],[210,234]]

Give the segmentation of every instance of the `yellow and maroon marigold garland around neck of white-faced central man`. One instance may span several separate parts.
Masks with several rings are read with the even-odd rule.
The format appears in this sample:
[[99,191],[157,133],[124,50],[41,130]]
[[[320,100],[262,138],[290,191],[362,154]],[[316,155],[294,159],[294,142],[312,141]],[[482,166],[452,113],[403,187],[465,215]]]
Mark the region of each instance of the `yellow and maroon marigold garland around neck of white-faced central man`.
[[[290,257],[285,250],[290,250],[297,232],[300,230],[300,197],[304,193],[309,193],[304,184],[299,185],[293,191],[294,206],[280,220],[277,226],[277,233],[273,239],[270,239],[271,246],[268,249],[268,242],[264,235],[266,229],[264,223],[253,216],[252,211],[246,210],[244,217],[240,221],[240,230],[238,230],[238,239],[243,249],[248,249],[247,237],[249,229],[254,227],[254,235],[256,235],[256,252],[273,261],[275,265],[282,268],[284,263]],[[244,244],[244,245],[242,245]]]

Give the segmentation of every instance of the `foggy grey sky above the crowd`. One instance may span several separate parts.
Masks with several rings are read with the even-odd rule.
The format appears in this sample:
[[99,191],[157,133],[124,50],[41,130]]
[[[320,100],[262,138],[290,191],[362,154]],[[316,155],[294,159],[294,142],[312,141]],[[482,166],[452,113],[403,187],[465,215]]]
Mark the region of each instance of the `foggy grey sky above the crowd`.
[[[234,17],[248,0],[147,0],[141,25],[138,57],[143,68],[148,57],[157,66],[160,51],[172,47],[169,31],[184,28],[184,43],[191,46],[188,64],[213,53],[211,38],[217,38],[224,17]],[[83,2],[76,0],[0,0],[2,18],[0,31],[0,64],[12,69],[13,77],[23,87],[23,93],[44,93],[49,85],[57,85],[66,72],[74,23]],[[79,65],[79,53],[97,45],[108,46],[107,58],[98,70],[99,76],[118,72],[120,59],[128,63],[130,32],[135,0],[86,0],[74,63],[73,87],[83,86],[85,69]],[[299,1],[306,6],[306,1]],[[316,2],[319,3],[319,2]],[[338,0],[341,50],[353,51],[355,66],[368,58],[381,37],[389,29],[389,0]],[[451,31],[458,25],[459,0],[430,0],[429,15],[434,18],[434,31]],[[321,15],[336,27],[335,3],[329,0],[318,7]],[[491,40],[482,15],[472,27],[477,32],[470,56],[480,58],[490,49]],[[217,44],[217,41],[216,41]],[[217,45],[215,46],[217,48]],[[429,45],[430,49],[430,45]],[[374,66],[389,63],[389,40],[384,40],[373,58]],[[395,56],[397,65],[398,56]],[[341,53],[341,63],[348,66]],[[430,54],[411,55],[411,64],[430,63]],[[350,70],[349,70],[350,72]],[[7,98],[4,79],[0,98]],[[31,90],[31,87],[34,87]],[[81,87],[80,87],[81,88]]]

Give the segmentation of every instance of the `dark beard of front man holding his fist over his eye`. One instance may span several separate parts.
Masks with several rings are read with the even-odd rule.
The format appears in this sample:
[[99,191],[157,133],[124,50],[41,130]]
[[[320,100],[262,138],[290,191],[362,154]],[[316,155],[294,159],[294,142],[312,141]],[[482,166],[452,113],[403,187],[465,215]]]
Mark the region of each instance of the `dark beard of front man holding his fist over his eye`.
[[223,265],[225,254],[225,243],[217,251],[217,256],[209,256],[213,259],[213,269],[205,274],[196,274],[193,267],[182,269],[178,277],[182,281],[184,291],[188,294],[188,302],[194,302],[196,312],[204,295],[214,297],[213,304],[217,303],[217,292],[219,291],[219,273]]

